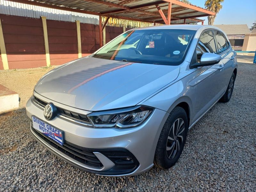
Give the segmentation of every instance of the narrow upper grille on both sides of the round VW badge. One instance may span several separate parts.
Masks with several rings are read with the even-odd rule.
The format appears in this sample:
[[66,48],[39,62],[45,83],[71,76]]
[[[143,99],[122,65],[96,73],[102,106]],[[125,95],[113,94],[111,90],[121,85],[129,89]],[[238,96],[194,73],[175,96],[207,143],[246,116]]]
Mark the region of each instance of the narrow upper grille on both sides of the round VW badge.
[[[37,98],[34,95],[32,97],[32,101],[42,108],[44,108],[47,105],[47,103],[45,101],[40,100],[39,98]],[[91,124],[91,122],[89,121],[89,119],[87,118],[86,115],[68,111],[66,109],[63,109],[63,108],[60,108],[57,106],[55,106],[55,107],[58,109],[58,115],[66,117],[65,119],[67,119],[67,120],[70,119],[70,120],[79,121],[79,122],[85,123],[85,124]]]

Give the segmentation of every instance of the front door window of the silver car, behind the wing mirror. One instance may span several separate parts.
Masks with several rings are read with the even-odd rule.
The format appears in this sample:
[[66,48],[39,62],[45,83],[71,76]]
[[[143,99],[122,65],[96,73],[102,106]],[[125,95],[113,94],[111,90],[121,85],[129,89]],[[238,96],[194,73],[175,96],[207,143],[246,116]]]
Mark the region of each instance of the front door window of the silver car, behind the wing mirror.
[[212,30],[205,31],[199,39],[196,47],[197,59],[200,60],[203,53],[216,53],[215,41]]

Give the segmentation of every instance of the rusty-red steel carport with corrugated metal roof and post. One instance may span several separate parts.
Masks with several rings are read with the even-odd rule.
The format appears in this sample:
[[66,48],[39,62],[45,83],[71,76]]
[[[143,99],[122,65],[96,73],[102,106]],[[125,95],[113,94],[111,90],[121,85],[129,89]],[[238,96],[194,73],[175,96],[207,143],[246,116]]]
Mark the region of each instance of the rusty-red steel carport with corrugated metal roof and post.
[[[102,30],[108,19],[118,18],[149,23],[186,24],[202,22],[197,17],[215,15],[214,12],[186,4],[178,0],[10,0],[18,3],[32,4],[53,9],[99,15],[100,45]],[[107,17],[102,25],[101,16]]]

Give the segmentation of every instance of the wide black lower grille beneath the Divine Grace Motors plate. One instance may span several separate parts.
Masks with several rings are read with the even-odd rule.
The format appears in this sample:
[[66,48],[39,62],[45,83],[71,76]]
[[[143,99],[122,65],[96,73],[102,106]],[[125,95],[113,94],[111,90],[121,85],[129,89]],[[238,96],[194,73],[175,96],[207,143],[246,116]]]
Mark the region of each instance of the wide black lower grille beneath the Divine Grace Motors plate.
[[94,167],[97,169],[103,168],[103,165],[101,164],[100,160],[92,152],[81,150],[67,143],[61,146],[55,143],[54,141],[52,141],[51,139],[49,139],[48,137],[44,136],[42,133],[36,131],[34,128],[32,129],[33,129],[33,132],[36,133],[41,139],[43,139],[52,147],[58,149],[60,152],[71,157],[72,159],[90,167]]

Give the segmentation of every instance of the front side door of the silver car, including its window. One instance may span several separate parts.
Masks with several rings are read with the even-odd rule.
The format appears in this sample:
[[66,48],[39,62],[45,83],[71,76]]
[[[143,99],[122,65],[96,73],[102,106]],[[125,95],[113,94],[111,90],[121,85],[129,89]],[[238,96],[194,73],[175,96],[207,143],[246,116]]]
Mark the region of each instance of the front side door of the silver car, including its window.
[[[204,31],[196,47],[197,61],[205,52],[216,53],[217,46],[213,31]],[[195,119],[200,118],[221,96],[223,65],[199,67],[195,70],[194,84],[196,86],[196,105],[194,108]]]

